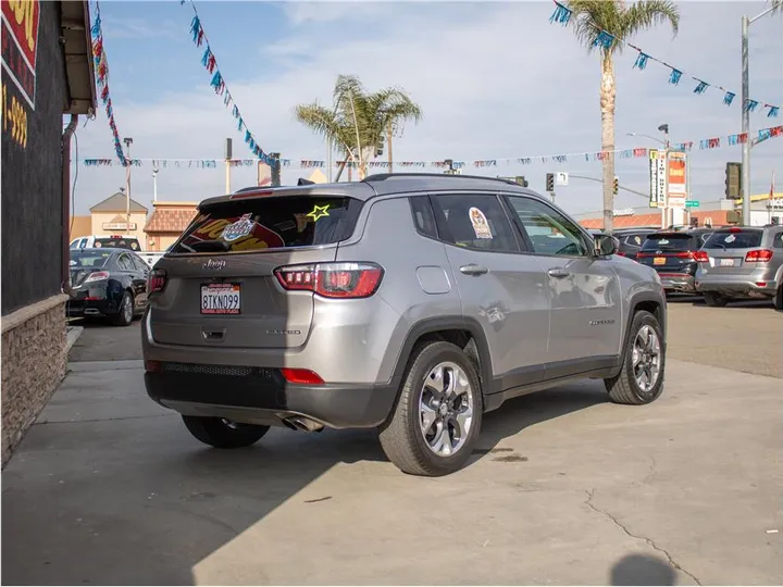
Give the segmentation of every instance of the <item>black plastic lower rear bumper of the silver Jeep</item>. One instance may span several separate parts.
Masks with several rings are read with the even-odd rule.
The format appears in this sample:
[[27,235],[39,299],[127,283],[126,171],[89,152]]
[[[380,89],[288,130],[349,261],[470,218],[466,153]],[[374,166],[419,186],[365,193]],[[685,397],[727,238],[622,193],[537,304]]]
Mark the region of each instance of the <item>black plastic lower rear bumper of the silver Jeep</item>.
[[[393,386],[291,385],[272,369],[217,367],[217,374],[148,371],[147,394],[164,408],[185,415],[225,417],[249,424],[283,425],[306,416],[330,428],[372,428],[389,415],[396,399]],[[243,371],[243,374],[226,374]],[[224,373],[220,373],[224,371]]]

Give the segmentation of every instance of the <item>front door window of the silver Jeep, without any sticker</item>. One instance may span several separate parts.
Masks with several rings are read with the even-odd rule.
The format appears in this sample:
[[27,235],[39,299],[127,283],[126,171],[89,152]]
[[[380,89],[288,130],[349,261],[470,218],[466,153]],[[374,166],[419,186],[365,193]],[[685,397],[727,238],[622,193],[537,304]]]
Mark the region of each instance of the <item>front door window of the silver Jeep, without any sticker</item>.
[[591,249],[576,223],[532,198],[509,196],[533,252],[563,257],[588,257]]

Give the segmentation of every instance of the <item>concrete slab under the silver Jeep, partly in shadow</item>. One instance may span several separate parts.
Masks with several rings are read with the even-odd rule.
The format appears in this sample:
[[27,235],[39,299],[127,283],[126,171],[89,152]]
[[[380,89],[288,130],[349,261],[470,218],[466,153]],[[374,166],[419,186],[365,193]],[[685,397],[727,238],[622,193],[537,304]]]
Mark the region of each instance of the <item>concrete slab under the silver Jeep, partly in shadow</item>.
[[511,401],[424,479],[369,432],[207,449],[138,363],[83,363],[4,471],[2,582],[775,584],[781,408],[780,379],[670,361],[648,407]]

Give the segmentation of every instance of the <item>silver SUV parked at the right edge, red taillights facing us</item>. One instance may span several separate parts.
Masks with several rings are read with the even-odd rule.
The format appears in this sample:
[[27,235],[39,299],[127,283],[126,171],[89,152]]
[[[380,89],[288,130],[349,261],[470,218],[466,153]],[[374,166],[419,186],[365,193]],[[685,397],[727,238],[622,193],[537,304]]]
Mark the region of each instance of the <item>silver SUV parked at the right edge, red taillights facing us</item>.
[[783,310],[783,226],[719,228],[695,260],[696,289],[707,305],[767,298]]

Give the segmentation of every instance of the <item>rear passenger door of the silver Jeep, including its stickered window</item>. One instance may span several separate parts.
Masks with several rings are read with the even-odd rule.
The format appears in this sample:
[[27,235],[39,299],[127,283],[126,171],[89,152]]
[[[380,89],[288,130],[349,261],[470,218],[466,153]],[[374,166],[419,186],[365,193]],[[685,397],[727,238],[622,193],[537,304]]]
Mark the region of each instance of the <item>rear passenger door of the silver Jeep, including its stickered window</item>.
[[[494,375],[500,379],[496,385],[507,389],[540,380],[549,305],[537,261],[519,252],[500,252],[519,251],[520,245],[496,195],[432,199],[462,313],[477,320],[486,334]],[[481,214],[471,213],[474,210]]]

